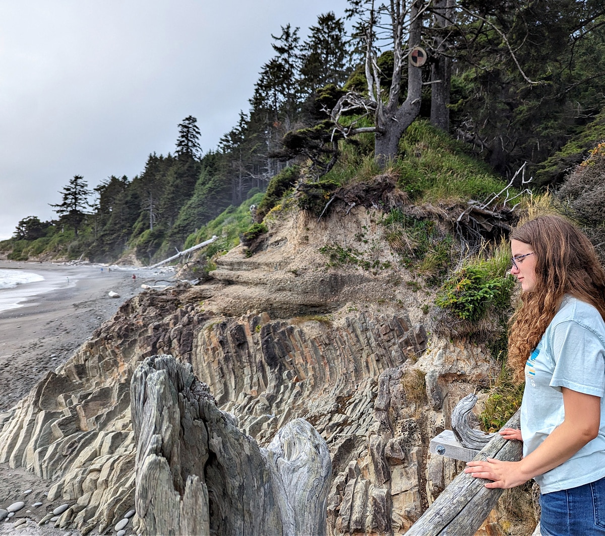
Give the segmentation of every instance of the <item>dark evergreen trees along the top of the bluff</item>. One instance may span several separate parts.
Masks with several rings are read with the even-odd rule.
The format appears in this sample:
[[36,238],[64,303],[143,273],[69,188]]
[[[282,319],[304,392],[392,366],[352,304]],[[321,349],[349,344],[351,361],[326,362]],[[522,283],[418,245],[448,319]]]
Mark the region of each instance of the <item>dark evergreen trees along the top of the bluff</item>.
[[[190,115],[174,154],[150,154],[132,179],[103,180],[94,202],[74,176],[51,205],[56,220],[19,222],[7,241],[13,258],[36,241],[38,253],[108,261],[132,250],[152,262],[284,167],[306,163],[307,180],[318,180],[347,147],[381,166],[400,157],[399,140],[418,117],[468,142],[503,176],[527,163],[537,187],[560,182],[605,139],[601,2],[348,4],[342,18],[319,15],[302,42],[290,24],[272,35],[275,56],[261,67],[250,109],[217,149],[202,152]],[[409,61],[416,47],[428,56],[422,66]],[[368,134],[373,143],[361,143]]]

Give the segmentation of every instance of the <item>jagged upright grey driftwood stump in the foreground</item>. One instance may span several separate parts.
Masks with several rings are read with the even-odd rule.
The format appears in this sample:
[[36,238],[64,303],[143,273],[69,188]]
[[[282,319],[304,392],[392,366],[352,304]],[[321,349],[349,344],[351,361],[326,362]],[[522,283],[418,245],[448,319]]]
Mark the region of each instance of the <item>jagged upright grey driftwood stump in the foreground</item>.
[[332,463],[306,421],[259,448],[171,356],[140,364],[131,413],[145,534],[325,534]]

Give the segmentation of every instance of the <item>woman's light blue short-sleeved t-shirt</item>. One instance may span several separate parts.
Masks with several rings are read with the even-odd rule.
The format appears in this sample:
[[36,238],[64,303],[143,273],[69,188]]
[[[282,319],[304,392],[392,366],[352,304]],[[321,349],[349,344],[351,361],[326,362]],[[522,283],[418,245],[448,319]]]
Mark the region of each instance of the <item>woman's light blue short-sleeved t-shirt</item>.
[[563,422],[561,387],[600,396],[601,426],[597,438],[569,460],[535,477],[542,493],[575,488],[605,476],[605,323],[592,305],[569,295],[525,365],[523,456]]

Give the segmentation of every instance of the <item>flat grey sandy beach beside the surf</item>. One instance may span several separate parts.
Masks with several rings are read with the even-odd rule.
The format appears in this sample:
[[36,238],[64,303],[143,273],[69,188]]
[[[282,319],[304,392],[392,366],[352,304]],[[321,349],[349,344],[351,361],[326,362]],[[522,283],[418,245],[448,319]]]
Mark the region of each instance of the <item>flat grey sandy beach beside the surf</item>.
[[[100,265],[11,261],[0,261],[0,268],[45,278],[0,290],[0,303],[10,302],[10,295],[27,298],[18,308],[0,311],[0,413],[27,395],[48,370],[67,360],[125,300],[143,290],[142,284],[166,284],[172,277],[165,268],[109,271]],[[120,297],[111,298],[110,291]]]

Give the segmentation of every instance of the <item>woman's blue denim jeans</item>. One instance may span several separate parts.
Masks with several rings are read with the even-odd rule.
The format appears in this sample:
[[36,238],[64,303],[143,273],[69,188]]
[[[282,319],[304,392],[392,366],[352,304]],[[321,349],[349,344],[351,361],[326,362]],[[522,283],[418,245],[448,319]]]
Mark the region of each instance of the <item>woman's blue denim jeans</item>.
[[605,535],[605,477],[540,496],[543,536]]

